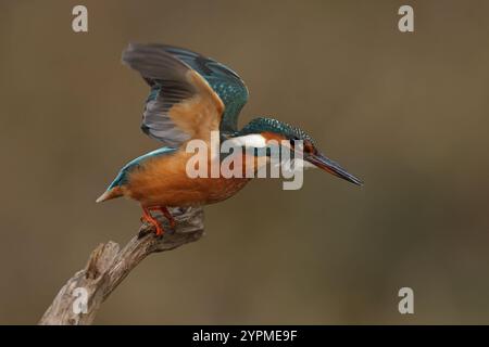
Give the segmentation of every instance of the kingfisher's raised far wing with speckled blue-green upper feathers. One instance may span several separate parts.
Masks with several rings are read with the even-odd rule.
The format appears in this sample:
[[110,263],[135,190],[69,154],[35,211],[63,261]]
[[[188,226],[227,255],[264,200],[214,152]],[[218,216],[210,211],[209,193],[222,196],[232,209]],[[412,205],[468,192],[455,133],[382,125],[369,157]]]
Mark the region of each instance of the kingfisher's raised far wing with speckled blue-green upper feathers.
[[229,67],[199,53],[173,46],[161,44],[160,47],[205,78],[225,105],[220,130],[224,133],[236,132],[239,113],[248,101],[248,88],[242,79]]

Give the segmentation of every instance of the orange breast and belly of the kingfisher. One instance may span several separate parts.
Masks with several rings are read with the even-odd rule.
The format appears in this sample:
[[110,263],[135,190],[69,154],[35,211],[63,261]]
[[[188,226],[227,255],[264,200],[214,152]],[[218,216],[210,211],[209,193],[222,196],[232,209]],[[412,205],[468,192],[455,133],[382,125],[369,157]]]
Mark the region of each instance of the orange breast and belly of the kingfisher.
[[197,206],[226,200],[250,180],[223,177],[192,179],[186,172],[187,160],[192,155],[181,150],[150,159],[129,175],[125,195],[143,206]]

